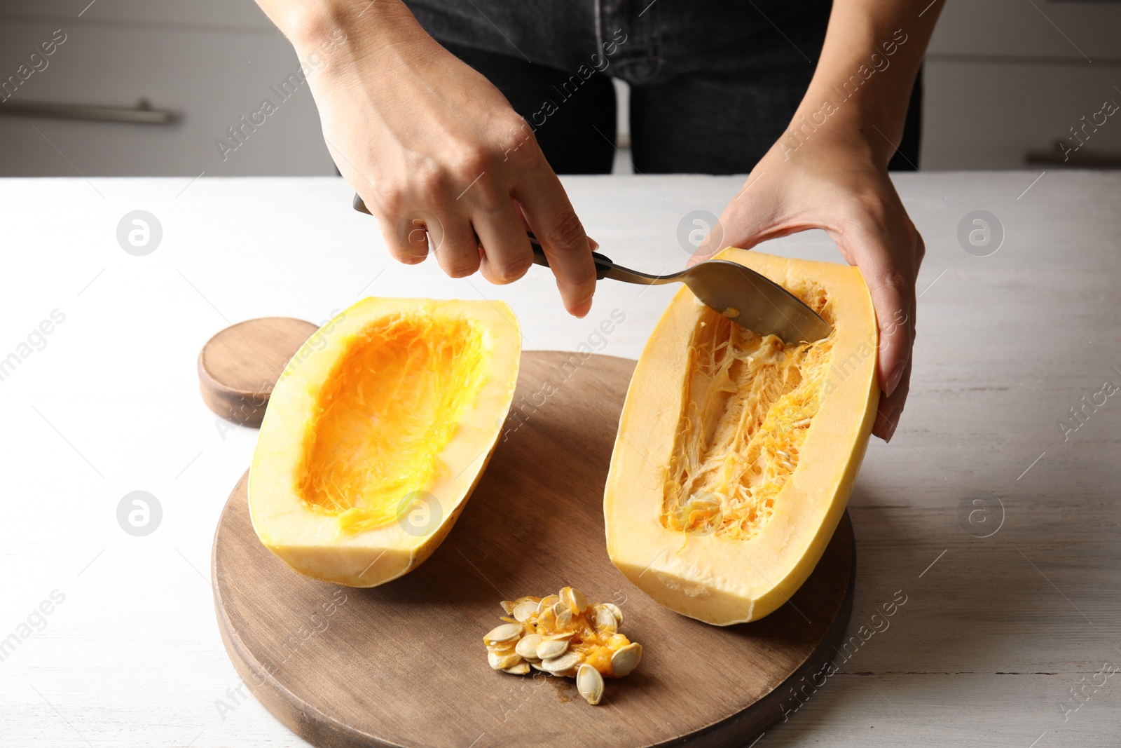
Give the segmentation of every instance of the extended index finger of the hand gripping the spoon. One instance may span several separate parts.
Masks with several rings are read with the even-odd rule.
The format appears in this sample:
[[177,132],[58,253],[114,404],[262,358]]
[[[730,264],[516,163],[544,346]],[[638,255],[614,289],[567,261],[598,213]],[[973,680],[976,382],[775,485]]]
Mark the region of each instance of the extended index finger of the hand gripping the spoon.
[[595,293],[592,248],[560,179],[544,159],[541,164],[529,174],[532,187],[521,188],[515,197],[541,242],[565,308],[569,314],[582,317],[592,307],[592,295]]

